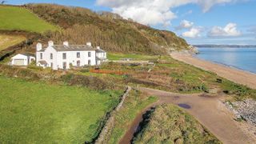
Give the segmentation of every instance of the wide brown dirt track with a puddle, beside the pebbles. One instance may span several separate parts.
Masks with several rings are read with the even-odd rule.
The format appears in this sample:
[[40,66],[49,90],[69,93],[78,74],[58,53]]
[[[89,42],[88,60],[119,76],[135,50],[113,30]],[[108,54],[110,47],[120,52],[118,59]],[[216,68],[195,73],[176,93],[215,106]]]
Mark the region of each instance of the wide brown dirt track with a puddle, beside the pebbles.
[[[255,135],[252,136],[245,131],[245,122],[234,121],[234,115],[226,109],[222,103],[223,96],[208,96],[204,94],[173,94],[162,90],[141,88],[149,95],[159,98],[156,103],[186,104],[190,109],[185,109],[206,126],[223,143],[241,144],[256,142]],[[249,136],[250,135],[250,136]]]

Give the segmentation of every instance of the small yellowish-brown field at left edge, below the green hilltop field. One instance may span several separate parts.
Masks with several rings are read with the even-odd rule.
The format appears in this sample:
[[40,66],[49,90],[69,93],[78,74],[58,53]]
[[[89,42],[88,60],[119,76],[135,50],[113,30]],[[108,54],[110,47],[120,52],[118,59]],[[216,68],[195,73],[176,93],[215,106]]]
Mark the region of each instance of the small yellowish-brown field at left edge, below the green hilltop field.
[[14,46],[20,42],[25,41],[25,40],[26,40],[25,37],[19,36],[19,35],[0,34],[0,51],[5,50],[9,46]]

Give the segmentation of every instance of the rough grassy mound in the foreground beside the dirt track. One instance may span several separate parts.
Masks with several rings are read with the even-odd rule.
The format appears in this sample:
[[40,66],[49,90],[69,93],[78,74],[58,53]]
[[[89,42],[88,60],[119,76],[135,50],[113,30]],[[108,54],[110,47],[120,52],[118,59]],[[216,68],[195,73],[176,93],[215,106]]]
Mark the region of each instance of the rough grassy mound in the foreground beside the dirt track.
[[173,105],[157,106],[134,143],[221,143],[206,128]]

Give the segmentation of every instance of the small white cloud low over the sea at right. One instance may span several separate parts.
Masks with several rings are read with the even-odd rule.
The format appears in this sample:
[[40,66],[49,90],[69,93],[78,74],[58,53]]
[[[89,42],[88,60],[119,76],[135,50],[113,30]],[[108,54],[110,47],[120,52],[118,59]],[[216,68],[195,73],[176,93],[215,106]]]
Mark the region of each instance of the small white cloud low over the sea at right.
[[236,23],[228,23],[225,27],[214,26],[208,33],[210,37],[237,37],[241,35],[241,31],[237,30]]

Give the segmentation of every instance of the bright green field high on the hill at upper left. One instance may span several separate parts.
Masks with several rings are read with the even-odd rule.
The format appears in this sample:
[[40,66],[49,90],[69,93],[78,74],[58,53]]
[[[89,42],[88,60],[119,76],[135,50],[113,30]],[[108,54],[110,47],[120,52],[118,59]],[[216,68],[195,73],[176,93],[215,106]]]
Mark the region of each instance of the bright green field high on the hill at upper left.
[[37,33],[43,33],[46,30],[58,30],[56,26],[18,6],[0,6],[0,20],[0,30],[25,30]]

